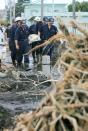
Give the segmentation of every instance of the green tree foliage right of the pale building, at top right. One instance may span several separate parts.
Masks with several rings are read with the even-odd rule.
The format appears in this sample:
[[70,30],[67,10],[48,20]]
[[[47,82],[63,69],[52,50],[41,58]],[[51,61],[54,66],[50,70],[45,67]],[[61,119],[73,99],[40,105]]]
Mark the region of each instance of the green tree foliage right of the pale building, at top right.
[[[68,11],[72,12],[72,4],[68,5]],[[88,12],[88,2],[76,2],[75,4],[75,11],[82,11],[82,12]]]

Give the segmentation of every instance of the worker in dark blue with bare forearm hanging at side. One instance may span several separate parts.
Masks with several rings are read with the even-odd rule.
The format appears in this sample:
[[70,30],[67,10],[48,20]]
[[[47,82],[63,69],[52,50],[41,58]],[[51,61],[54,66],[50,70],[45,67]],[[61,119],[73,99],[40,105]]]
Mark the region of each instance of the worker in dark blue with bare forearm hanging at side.
[[[22,67],[23,55],[27,53],[30,49],[28,36],[29,28],[24,25],[23,19],[19,17],[18,28],[15,33],[15,44],[17,49],[17,66]],[[29,55],[24,55],[24,65],[25,68],[29,68]]]

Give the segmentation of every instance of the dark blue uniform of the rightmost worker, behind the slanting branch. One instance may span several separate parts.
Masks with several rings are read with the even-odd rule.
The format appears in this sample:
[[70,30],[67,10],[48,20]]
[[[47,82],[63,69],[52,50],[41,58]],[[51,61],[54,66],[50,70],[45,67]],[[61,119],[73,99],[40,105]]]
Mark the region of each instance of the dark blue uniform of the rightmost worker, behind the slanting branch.
[[[57,28],[54,25],[51,25],[51,27],[48,27],[48,24],[43,25],[40,28],[40,37],[42,41],[48,40],[50,37],[54,36],[55,34],[57,34]],[[48,45],[44,48],[43,50],[43,54],[48,54],[48,55],[52,55],[52,51],[53,51],[53,47],[54,45]]]

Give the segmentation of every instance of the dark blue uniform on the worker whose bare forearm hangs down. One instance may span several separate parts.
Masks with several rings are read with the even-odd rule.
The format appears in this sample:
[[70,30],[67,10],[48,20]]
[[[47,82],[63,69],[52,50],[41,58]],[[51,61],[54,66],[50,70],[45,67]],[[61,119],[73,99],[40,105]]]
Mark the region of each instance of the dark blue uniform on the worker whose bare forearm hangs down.
[[[18,27],[15,33],[15,40],[18,41],[19,50],[17,51],[17,62],[20,65],[23,60],[23,54],[29,51],[28,42],[29,28],[25,25],[23,27]],[[24,55],[24,63],[29,63],[29,56]]]

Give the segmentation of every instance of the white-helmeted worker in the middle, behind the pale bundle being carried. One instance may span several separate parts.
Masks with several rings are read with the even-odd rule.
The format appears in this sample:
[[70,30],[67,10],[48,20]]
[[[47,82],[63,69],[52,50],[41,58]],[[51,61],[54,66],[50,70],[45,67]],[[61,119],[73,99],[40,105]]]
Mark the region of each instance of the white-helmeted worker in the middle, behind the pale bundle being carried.
[[[40,17],[35,17],[34,24],[32,24],[29,28],[30,35],[32,35],[32,34],[38,35],[38,31],[39,31],[41,25],[42,25],[42,22],[41,22]],[[36,47],[37,45],[39,45],[39,41],[34,41],[34,42],[31,43],[32,48]],[[38,61],[39,51],[40,50],[32,52],[32,57],[33,57],[34,63],[36,63]],[[36,58],[37,58],[37,61],[36,61]]]

